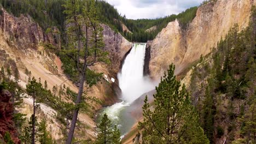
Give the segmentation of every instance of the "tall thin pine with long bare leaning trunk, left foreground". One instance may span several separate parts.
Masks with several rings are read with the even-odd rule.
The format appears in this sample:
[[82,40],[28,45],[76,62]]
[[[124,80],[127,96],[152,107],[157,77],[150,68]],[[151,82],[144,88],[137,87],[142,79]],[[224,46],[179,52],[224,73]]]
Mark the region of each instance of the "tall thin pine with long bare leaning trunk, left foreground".
[[[72,25],[69,25],[66,29],[68,44],[63,53],[67,56],[74,56],[71,61],[75,65],[74,71],[78,75],[73,77],[79,77],[79,91],[75,100],[75,110],[68,132],[67,144],[72,142],[79,109],[83,103],[84,82],[88,77],[86,71],[88,71],[89,66],[94,65],[96,62],[107,61],[107,53],[102,51],[104,45],[103,34],[96,10],[96,2],[94,0],[86,1],[90,3],[89,7],[87,4],[87,7],[81,7],[80,2],[78,0],[69,0],[64,5],[67,25],[71,23]],[[82,14],[80,13],[81,9]],[[92,33],[89,32],[89,29],[92,30]],[[82,59],[83,61],[81,61]]]

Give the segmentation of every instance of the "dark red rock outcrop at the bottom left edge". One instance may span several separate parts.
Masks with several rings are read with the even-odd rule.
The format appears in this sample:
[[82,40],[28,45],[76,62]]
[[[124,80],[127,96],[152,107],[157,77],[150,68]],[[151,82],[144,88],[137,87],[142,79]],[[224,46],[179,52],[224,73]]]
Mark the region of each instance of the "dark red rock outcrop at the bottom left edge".
[[14,107],[10,99],[11,94],[8,91],[0,89],[0,139],[3,139],[5,133],[9,132],[14,143],[20,143],[13,122]]

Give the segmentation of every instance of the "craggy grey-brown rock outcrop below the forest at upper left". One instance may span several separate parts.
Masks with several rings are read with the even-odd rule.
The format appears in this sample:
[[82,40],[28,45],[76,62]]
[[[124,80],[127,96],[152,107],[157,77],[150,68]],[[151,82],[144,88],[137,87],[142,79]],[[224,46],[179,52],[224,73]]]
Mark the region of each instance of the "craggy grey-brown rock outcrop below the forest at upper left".
[[[34,22],[29,15],[15,17],[4,9],[1,11],[0,26],[4,38],[9,43],[14,42],[19,49],[37,50],[40,43],[50,43],[60,48],[60,36],[58,34],[45,34],[38,23]],[[58,31],[56,28],[54,29]]]

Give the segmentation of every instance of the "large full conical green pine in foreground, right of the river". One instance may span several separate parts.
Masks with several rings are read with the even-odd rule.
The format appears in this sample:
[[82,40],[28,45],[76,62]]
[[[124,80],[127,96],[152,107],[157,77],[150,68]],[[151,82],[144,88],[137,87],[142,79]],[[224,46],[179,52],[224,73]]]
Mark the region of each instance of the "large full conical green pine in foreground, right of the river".
[[139,122],[143,143],[209,143],[199,127],[185,86],[181,87],[174,76],[173,64],[156,87],[154,110],[150,109],[147,97],[144,103],[144,120]]

